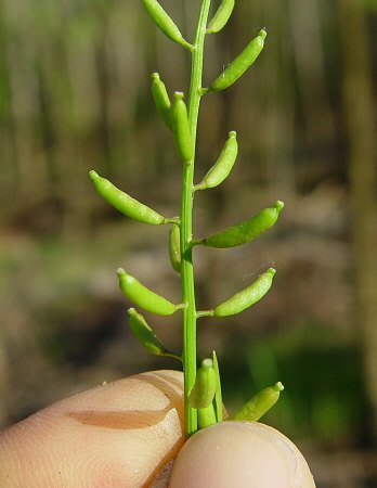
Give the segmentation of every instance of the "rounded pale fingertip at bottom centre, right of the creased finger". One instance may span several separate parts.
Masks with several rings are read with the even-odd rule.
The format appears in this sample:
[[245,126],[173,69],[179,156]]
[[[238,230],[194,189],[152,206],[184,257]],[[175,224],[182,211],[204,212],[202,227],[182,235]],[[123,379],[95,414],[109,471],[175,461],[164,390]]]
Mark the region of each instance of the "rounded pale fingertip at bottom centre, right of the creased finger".
[[223,422],[193,435],[169,488],[315,488],[308,464],[283,434],[257,422]]

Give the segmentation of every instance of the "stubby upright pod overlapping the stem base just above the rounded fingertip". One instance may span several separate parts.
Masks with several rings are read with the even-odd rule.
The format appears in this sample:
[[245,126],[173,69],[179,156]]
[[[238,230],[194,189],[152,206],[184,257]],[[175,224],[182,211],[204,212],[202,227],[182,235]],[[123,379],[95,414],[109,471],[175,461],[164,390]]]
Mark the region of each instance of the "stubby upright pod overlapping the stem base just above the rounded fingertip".
[[212,403],[216,394],[216,373],[211,359],[204,359],[196,372],[194,388],[188,396],[194,409],[204,409]]

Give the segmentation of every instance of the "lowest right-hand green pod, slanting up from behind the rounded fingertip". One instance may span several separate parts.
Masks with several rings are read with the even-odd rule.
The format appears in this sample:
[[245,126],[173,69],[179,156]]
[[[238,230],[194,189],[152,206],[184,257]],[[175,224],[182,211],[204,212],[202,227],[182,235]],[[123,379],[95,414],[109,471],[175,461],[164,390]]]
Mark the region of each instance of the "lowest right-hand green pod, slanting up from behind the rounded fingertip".
[[252,397],[251,400],[245,403],[231,420],[257,422],[276,403],[283,389],[284,386],[281,382],[275,383],[274,386],[262,389],[258,395]]

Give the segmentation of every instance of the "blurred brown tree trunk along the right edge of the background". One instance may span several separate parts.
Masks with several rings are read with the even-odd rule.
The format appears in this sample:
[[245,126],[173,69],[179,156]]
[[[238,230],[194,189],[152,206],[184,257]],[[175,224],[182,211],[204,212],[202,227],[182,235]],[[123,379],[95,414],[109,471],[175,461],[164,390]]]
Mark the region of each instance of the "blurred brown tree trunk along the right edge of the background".
[[372,407],[372,435],[374,442],[377,442],[377,251],[374,235],[377,151],[372,90],[373,43],[368,38],[365,4],[338,0],[338,5],[359,320],[367,395]]

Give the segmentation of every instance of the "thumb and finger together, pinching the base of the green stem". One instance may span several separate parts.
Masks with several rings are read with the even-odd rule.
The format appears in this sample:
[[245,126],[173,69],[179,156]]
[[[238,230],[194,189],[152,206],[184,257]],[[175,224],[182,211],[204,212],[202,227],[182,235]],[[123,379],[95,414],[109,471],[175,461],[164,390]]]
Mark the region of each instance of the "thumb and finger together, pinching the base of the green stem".
[[314,487],[298,449],[263,424],[224,422],[184,445],[183,377],[142,373],[43,409],[0,433],[6,488]]

